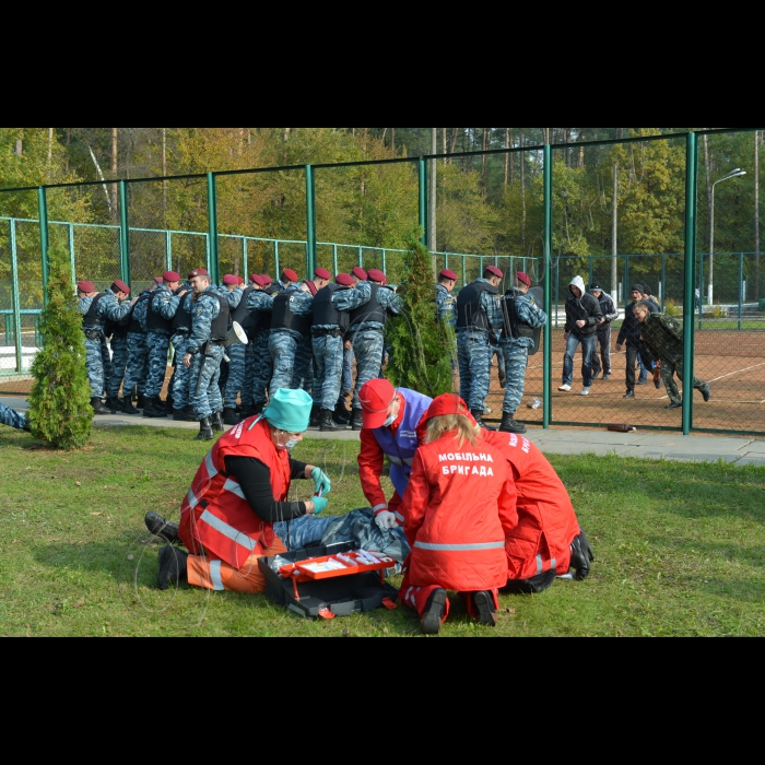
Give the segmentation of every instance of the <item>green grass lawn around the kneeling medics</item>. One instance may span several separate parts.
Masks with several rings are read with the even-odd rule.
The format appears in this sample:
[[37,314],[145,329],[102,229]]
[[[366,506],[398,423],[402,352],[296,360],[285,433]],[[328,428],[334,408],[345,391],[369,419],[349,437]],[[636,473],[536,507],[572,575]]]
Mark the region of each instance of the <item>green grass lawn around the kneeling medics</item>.
[[[190,434],[97,429],[75,454],[2,428],[0,634],[327,636],[419,634],[411,612],[311,623],[260,596],[152,587],[149,509],[178,517],[208,446]],[[295,457],[334,479],[330,511],[366,506],[353,443],[307,440]],[[457,603],[445,636],[765,634],[765,469],[555,457],[597,555],[586,582],[503,598],[499,626]],[[311,485],[295,484],[297,498]]]

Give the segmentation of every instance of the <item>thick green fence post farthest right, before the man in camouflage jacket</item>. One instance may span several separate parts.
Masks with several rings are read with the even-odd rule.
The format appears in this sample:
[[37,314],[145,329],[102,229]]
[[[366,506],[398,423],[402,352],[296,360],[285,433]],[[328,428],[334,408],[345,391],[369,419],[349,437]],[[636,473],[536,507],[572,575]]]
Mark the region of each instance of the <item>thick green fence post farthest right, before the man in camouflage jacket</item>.
[[683,435],[693,428],[693,367],[694,367],[694,297],[696,279],[696,204],[698,184],[698,142],[696,133],[687,137],[685,178],[685,299],[683,301]]

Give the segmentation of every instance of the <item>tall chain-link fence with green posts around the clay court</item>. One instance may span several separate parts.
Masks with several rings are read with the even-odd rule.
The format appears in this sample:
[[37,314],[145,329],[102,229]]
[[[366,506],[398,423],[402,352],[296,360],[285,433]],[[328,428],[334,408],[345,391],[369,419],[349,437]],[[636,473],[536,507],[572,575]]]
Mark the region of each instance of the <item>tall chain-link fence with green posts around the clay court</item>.
[[[545,348],[530,358],[518,420],[763,433],[765,268],[761,179],[754,174],[762,133],[657,138],[642,130],[576,146],[48,189],[47,231],[50,246],[69,254],[75,280],[105,289],[121,278],[134,293],[165,270],[185,274],[200,266],[221,281],[224,273],[275,278],[291,268],[309,276],[318,266],[338,273],[360,264],[400,284],[412,278],[403,256],[420,231],[434,255],[434,273],[448,268],[464,285],[493,264],[505,274],[502,292],[517,271],[549,287]],[[36,346],[43,215],[30,213],[38,191],[0,192],[0,391],[16,386],[23,392],[20,380],[32,357],[25,350]],[[25,202],[8,203],[17,196]],[[574,276],[588,289],[598,284],[616,314],[610,339],[599,346],[600,362],[592,362],[610,366],[611,376],[588,386],[587,396],[580,395],[581,345],[568,345],[567,354],[564,337]],[[682,410],[668,409],[672,398],[664,382],[656,387],[652,368],[636,366],[629,390],[626,366],[634,354],[626,341],[619,352],[616,345],[638,283],[681,333],[679,389],[693,367],[710,384],[708,403],[696,393],[693,405],[686,397]],[[607,346],[610,358],[602,355]],[[495,350],[486,417],[498,420],[505,390]],[[568,377],[572,390],[558,390]],[[634,398],[624,398],[631,392]]]

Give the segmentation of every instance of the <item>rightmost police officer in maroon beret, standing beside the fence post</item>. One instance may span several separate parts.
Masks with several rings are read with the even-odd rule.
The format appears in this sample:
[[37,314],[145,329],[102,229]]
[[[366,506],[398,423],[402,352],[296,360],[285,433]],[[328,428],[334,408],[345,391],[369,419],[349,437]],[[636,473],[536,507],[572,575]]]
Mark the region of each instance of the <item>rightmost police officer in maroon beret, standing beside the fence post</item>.
[[526,425],[516,422],[515,414],[523,399],[526,369],[529,365],[529,351],[537,349],[539,331],[548,325],[548,315],[540,309],[532,295],[529,295],[531,279],[519,271],[516,286],[505,294],[502,306],[503,328],[499,344],[505,356],[507,385],[502,407],[503,433],[526,433]]

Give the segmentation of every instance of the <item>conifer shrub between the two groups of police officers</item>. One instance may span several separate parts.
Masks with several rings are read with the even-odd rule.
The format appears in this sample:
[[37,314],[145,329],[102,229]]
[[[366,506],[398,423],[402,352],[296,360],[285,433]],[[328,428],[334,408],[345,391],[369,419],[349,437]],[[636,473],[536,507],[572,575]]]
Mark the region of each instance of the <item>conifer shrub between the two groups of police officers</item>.
[[410,388],[436,398],[454,390],[451,360],[457,341],[451,327],[438,320],[431,254],[415,240],[404,255],[407,281],[399,289],[403,315],[392,321],[388,376],[398,388]]

